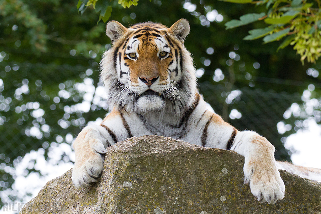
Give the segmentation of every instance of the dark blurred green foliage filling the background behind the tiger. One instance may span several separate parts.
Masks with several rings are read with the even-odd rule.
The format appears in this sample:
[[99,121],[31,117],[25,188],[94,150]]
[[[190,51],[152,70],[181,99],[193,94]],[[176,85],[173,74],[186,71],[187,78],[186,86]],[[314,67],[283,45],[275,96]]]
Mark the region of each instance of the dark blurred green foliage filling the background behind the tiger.
[[[104,11],[99,2],[109,9]],[[277,159],[290,160],[281,139],[304,128],[309,117],[320,123],[320,60],[302,65],[290,46],[277,52],[277,43],[243,39],[250,30],[265,29],[265,22],[225,30],[227,21],[266,13],[265,6],[152,0],[124,8],[117,1],[100,0],[79,13],[83,3],[0,0],[0,193],[11,188],[15,167],[26,153],[43,148],[48,160],[52,146],[71,144],[89,121],[104,118],[108,106],[99,93],[98,64],[111,47],[106,24],[99,22],[107,21],[106,13],[125,26],[144,21],[171,26],[187,19],[191,32],[185,45],[193,54],[205,100],[236,128],[265,136],[276,147]],[[296,111],[290,111],[293,103]],[[241,117],[233,116],[234,110]],[[280,121],[291,127],[279,133]],[[31,172],[39,169],[30,164],[25,175]],[[10,200],[19,197],[12,194]]]

